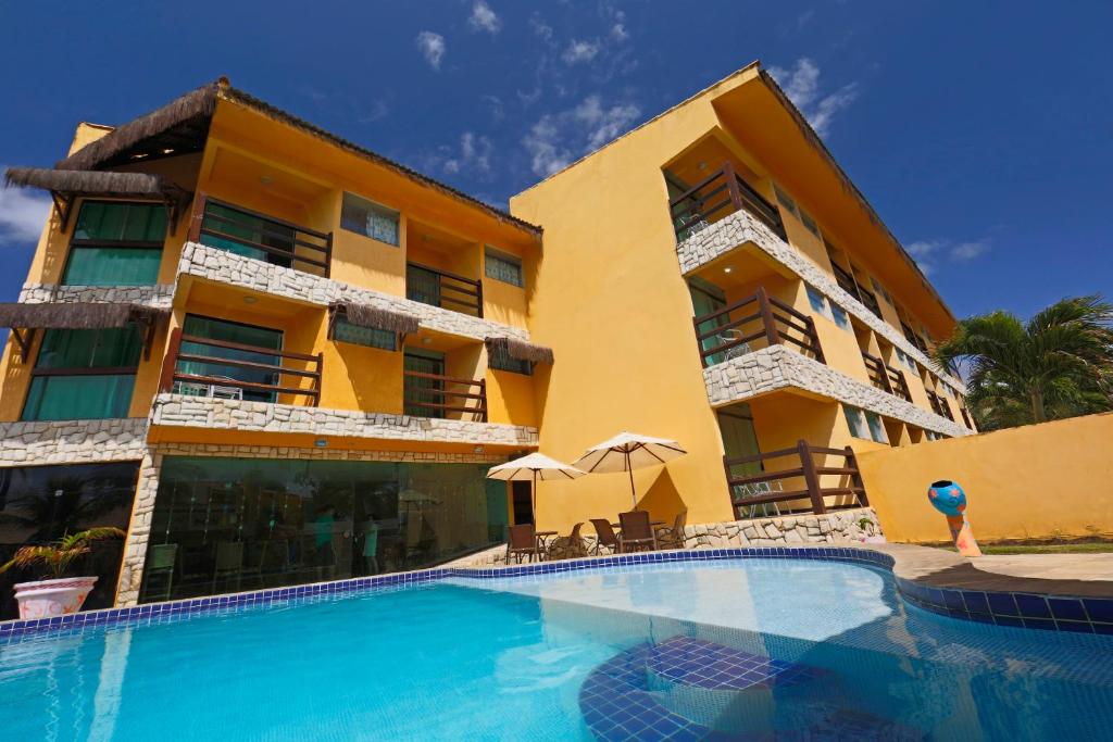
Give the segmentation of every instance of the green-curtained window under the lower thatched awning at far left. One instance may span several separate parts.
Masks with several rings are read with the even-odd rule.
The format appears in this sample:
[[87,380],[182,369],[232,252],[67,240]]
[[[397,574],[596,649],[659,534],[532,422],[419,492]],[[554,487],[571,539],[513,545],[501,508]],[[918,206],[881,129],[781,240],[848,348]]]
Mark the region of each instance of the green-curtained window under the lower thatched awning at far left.
[[46,330],[21,419],[127,417],[141,350],[135,325]]

